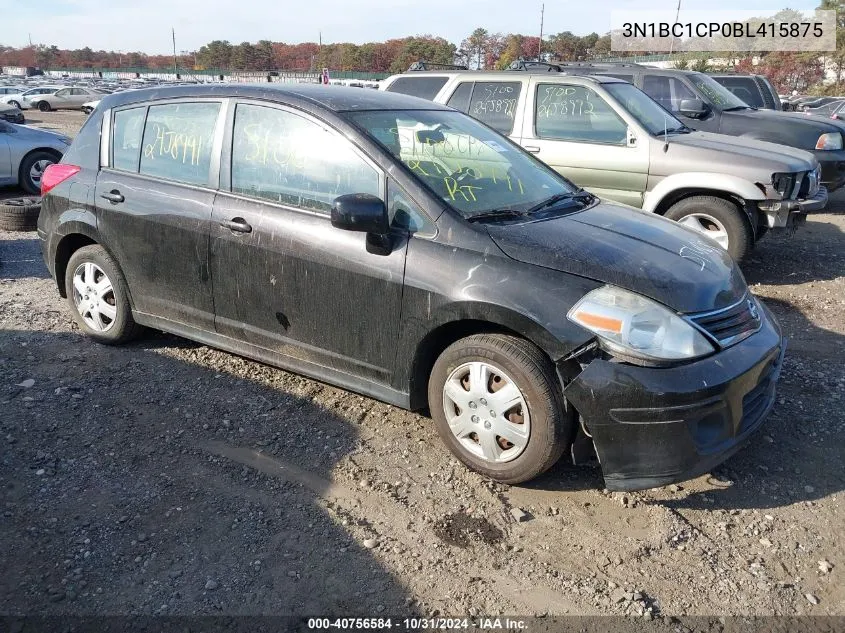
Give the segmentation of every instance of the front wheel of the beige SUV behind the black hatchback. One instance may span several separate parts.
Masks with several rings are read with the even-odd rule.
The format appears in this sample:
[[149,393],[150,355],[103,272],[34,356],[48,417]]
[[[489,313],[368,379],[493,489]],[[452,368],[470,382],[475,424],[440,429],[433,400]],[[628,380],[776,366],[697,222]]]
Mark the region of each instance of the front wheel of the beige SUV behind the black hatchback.
[[[715,239],[740,262],[753,248],[751,226],[736,204],[714,196],[691,196],[676,202],[666,217]],[[711,235],[712,234],[712,235]]]

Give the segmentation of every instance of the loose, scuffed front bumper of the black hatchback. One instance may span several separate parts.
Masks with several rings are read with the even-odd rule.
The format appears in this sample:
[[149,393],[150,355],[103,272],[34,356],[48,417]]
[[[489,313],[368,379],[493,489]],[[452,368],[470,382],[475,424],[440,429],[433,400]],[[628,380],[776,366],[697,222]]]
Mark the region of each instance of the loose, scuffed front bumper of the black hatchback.
[[774,405],[786,349],[763,312],[756,334],[713,356],[663,368],[597,359],[566,386],[609,490],[691,479],[742,448]]

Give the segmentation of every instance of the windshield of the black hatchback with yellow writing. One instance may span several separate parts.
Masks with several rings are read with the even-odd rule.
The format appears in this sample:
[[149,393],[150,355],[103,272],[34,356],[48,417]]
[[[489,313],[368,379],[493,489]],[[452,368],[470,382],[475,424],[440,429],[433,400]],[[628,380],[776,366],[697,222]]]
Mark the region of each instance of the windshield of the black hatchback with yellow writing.
[[487,126],[448,110],[379,110],[348,117],[465,218],[525,212],[578,191]]

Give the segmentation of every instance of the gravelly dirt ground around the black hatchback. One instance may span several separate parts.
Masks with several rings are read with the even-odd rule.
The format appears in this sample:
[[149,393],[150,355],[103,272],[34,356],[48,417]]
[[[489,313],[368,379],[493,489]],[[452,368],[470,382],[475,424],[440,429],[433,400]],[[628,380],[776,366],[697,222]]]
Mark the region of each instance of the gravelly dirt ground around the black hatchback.
[[790,339],[761,432],[628,494],[492,483],[427,418],[174,336],[92,343],[0,233],[0,614],[845,615],[834,198],[743,265]]

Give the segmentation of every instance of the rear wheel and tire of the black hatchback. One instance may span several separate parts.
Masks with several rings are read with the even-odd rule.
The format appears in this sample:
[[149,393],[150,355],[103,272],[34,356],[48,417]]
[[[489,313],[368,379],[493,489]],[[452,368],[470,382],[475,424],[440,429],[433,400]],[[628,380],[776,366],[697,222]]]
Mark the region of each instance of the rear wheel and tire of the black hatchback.
[[[86,292],[84,295],[74,285],[77,273],[81,289]],[[103,276],[107,278],[110,289]],[[65,272],[65,288],[74,321],[83,333],[95,341],[119,345],[142,331],[143,328],[132,318],[123,273],[102,246],[83,246],[71,255]]]

